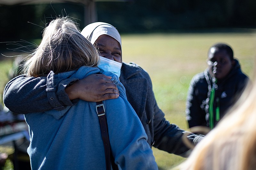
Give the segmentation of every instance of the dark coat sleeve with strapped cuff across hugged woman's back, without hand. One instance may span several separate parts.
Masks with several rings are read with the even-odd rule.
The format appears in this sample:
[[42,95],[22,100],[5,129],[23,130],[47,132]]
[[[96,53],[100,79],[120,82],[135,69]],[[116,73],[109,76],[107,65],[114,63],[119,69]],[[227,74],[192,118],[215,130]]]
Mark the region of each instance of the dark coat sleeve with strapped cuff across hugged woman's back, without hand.
[[[34,78],[21,75],[12,79],[4,88],[4,105],[10,111],[20,114],[43,112],[52,108],[61,109],[65,105],[73,105],[67,94],[56,94],[57,88],[54,86],[53,76],[47,85],[49,77],[51,76]],[[74,81],[76,79],[62,82],[63,89],[65,89],[64,83],[67,85]]]

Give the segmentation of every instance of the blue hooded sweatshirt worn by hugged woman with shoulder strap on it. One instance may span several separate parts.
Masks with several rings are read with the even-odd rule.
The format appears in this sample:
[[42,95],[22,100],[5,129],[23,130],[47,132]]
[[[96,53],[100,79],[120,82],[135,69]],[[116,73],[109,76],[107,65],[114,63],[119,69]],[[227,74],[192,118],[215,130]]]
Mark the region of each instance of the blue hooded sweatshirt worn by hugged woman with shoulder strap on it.
[[[82,79],[96,73],[98,68],[83,66],[76,71],[59,73],[58,79]],[[120,94],[117,99],[103,101],[115,163],[121,169],[158,169],[140,119],[126,99],[124,86],[116,75],[104,74],[112,76]],[[78,100],[75,106],[61,111],[52,109],[25,115],[32,170],[106,169],[95,106],[96,102]]]

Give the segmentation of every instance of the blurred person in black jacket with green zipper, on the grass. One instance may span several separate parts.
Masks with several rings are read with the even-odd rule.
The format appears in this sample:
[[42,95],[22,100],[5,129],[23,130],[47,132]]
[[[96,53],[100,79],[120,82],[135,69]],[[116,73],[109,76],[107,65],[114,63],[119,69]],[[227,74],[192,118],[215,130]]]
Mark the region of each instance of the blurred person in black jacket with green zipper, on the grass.
[[207,126],[213,129],[249,80],[227,44],[213,45],[208,52],[207,64],[204,72],[192,78],[188,89],[186,119],[189,128]]

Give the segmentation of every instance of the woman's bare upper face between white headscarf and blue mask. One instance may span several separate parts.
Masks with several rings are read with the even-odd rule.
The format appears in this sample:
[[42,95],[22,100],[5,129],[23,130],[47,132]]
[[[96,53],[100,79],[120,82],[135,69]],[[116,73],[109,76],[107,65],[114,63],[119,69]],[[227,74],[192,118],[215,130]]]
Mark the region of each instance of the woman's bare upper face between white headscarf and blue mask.
[[122,63],[121,46],[116,39],[109,35],[100,35],[94,45],[99,51],[99,55],[118,63]]

